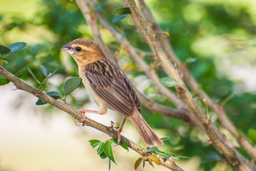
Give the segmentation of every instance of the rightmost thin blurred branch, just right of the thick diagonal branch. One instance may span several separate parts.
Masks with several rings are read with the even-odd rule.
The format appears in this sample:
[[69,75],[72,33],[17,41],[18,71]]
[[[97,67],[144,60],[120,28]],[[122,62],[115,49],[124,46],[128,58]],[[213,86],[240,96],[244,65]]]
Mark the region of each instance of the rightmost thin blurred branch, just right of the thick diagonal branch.
[[[159,26],[157,25],[157,22],[154,20],[154,17],[147,7],[147,5],[144,3],[144,0],[139,0],[139,4],[143,6],[143,13],[146,17],[147,21],[152,24],[152,29],[155,32],[161,31]],[[234,137],[237,139],[237,142],[252,156],[254,160],[256,160],[256,148],[244,137],[242,136],[237,129],[235,128],[235,125],[233,125],[230,120],[227,118],[227,115],[225,113],[225,110],[223,108],[223,105],[220,105],[218,103],[215,103],[203,90],[200,90],[200,86],[198,85],[197,81],[195,81],[195,78],[191,76],[189,73],[189,70],[186,65],[184,65],[181,61],[179,61],[179,58],[175,55],[174,51],[172,50],[172,46],[169,43],[169,38],[166,36],[162,36],[161,38],[161,44],[164,48],[164,50],[167,53],[167,57],[173,62],[177,64],[177,67],[179,70],[183,73],[184,79],[187,81],[187,84],[192,88],[192,90],[195,91],[195,93],[198,94],[199,98],[205,98],[207,105],[217,114],[220,122],[222,123],[222,127],[226,128],[227,130],[234,135]]]

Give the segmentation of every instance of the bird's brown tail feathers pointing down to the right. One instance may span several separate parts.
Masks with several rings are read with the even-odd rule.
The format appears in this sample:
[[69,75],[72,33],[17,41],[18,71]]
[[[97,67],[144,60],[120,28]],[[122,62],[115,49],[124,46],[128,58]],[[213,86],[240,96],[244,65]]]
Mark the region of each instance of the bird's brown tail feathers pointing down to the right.
[[162,140],[157,136],[156,133],[154,133],[154,130],[150,128],[146,120],[144,120],[144,118],[139,112],[130,115],[129,120],[132,121],[132,124],[135,126],[135,128],[139,132],[139,135],[141,136],[142,140],[146,143],[146,145],[164,145]]

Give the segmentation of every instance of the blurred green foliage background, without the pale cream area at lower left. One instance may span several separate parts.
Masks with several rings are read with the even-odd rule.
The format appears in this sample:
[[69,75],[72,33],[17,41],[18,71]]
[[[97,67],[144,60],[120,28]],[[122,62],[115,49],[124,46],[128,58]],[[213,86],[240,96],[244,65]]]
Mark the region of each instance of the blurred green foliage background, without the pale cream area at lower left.
[[[250,135],[249,132],[256,130],[256,1],[149,0],[145,2],[162,30],[169,33],[175,53],[181,61],[187,63],[189,71],[200,87],[216,102],[221,103],[231,97],[225,103],[225,111],[240,132],[252,139],[254,135]],[[61,68],[57,76],[46,84],[44,90],[46,92],[57,90],[62,93],[64,80],[69,76],[78,76],[78,71],[73,59],[61,53],[59,49],[75,38],[93,40],[89,26],[75,1],[0,0],[0,4],[0,44],[9,46],[17,41],[28,44],[23,51],[12,54],[10,56],[12,61],[7,65],[4,64],[4,68],[16,73],[27,66],[39,80],[43,79],[40,65],[45,66],[49,71]],[[117,0],[97,1],[97,4],[102,7],[109,22],[114,18],[112,11],[122,7]],[[124,33],[134,47],[150,51],[147,43],[138,36],[139,33],[129,16],[112,25]],[[101,28],[101,33],[112,52],[117,51],[119,43],[104,28]],[[190,63],[189,60],[192,58],[196,60]],[[154,63],[152,56],[144,56],[144,60],[147,63]],[[157,94],[157,89],[126,53],[121,53],[119,64],[145,95],[157,103],[173,107],[166,98]],[[158,73],[160,78],[165,76],[160,68]],[[39,87],[29,73],[25,72],[20,77]],[[82,88],[83,86],[80,86],[80,89]],[[74,93],[69,97],[69,103],[75,108],[82,108],[87,102],[89,96],[86,93],[82,96],[76,96]],[[18,103],[22,105],[21,101]],[[205,108],[204,105],[202,107]],[[46,105],[44,110],[55,109]],[[172,149],[173,154],[189,156],[192,157],[191,160],[196,157],[198,170],[223,170],[223,168],[232,170],[232,167],[223,162],[225,160],[215,148],[206,143],[207,137],[197,128],[182,123],[181,120],[153,115],[143,106],[142,112],[145,113],[144,118],[149,125],[161,130],[163,135],[169,138],[165,142],[164,150]],[[209,112],[215,124],[220,126],[215,113],[211,110]],[[118,116],[118,120],[121,120],[121,116]],[[226,133],[225,130],[223,131]],[[235,140],[232,142],[236,144]],[[84,142],[84,144],[89,148],[89,143]],[[237,149],[248,157],[240,147]],[[0,152],[0,170],[1,157],[4,158]],[[188,159],[180,160],[181,163],[189,162]],[[129,160],[131,166],[134,161],[135,159]]]

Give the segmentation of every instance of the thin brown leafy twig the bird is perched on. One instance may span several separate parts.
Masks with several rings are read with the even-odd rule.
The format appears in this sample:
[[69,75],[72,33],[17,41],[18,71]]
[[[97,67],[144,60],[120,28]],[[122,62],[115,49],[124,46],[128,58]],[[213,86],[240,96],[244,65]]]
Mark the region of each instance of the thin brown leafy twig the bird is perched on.
[[[51,98],[49,95],[46,95],[41,90],[34,88],[32,86],[29,86],[29,84],[25,83],[24,81],[21,81],[21,79],[17,78],[13,74],[9,73],[9,71],[6,71],[6,69],[3,68],[3,66],[0,65],[0,74],[1,76],[4,76],[9,81],[14,83],[16,86],[16,89],[18,90],[24,90],[28,93],[31,93],[32,95],[36,96],[37,98],[40,98],[41,100],[44,100],[46,103],[49,103],[50,105],[53,105],[56,108],[59,108],[60,110],[63,110],[64,112],[68,113],[69,115],[72,115],[74,118],[77,118],[78,120],[82,120],[82,115],[77,110],[72,108],[71,105],[67,103],[61,103],[58,100],[55,100],[54,98]],[[86,120],[84,123],[88,126],[91,126],[92,128],[96,128],[97,130],[102,131],[103,133],[109,135],[112,138],[117,138],[117,131],[114,130],[111,127],[108,127],[106,125],[102,125],[101,123],[97,123],[95,120],[92,120],[90,118],[86,117]],[[147,154],[147,150],[140,147],[136,143],[132,142],[128,138],[125,138],[123,135],[121,135],[121,140],[124,142],[129,148],[139,153],[139,155],[142,155],[143,157]],[[164,167],[169,168],[170,170],[182,170],[179,168],[174,161],[166,158],[159,157],[161,165]]]

